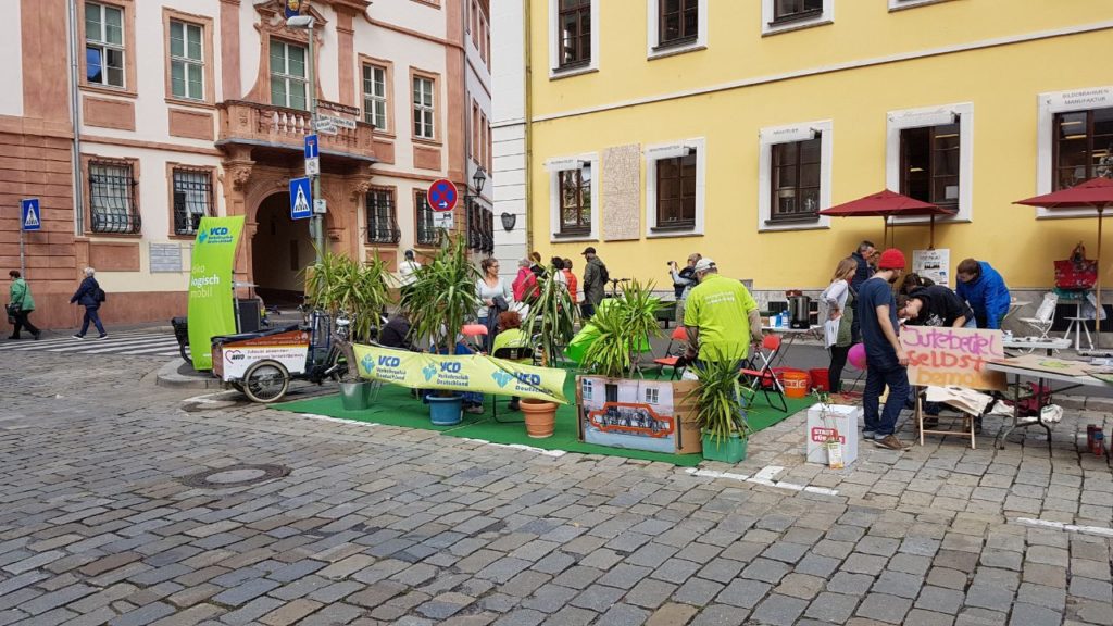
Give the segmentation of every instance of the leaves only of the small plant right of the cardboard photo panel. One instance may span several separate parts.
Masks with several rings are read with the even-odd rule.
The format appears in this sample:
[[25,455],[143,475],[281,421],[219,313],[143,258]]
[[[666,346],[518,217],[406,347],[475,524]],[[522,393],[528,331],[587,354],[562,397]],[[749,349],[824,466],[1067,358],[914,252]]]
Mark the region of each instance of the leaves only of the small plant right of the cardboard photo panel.
[[747,439],[752,432],[742,412],[742,400],[752,392],[738,384],[737,359],[711,356],[701,360],[700,368],[691,369],[699,379],[699,387],[689,397],[696,399],[700,428],[716,446],[722,446],[732,434]]

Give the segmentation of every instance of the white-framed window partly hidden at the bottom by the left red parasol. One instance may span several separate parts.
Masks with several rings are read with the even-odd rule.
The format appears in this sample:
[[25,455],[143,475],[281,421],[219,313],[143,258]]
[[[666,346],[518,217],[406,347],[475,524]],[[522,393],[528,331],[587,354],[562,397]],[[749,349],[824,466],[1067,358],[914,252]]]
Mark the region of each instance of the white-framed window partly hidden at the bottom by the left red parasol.
[[[973,218],[974,106],[890,111],[886,133],[886,187]],[[927,218],[903,218],[923,222]]]

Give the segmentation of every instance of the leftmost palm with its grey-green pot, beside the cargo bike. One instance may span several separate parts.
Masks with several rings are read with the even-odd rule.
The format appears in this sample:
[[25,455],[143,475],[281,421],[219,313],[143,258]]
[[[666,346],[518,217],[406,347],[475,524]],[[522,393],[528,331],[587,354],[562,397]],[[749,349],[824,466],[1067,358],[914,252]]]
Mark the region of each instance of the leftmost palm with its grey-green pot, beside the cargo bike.
[[[362,381],[355,368],[351,342],[367,341],[377,334],[383,310],[391,303],[386,283],[386,264],[376,254],[365,263],[345,255],[325,252],[321,260],[306,268],[306,301],[327,311],[334,320],[349,320],[346,342],[337,348],[344,352],[343,366],[333,375],[341,381],[341,397],[348,410],[367,409],[376,383]],[[338,330],[338,329],[337,329]]]

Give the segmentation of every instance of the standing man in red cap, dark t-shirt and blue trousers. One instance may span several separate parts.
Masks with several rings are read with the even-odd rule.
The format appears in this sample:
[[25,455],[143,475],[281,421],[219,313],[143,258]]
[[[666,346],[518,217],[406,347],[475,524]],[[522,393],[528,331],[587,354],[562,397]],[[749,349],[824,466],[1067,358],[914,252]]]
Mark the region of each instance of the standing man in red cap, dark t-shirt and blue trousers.
[[[897,303],[893,283],[905,268],[904,253],[888,248],[877,262],[877,272],[858,291],[858,319],[861,342],[866,346],[866,390],[863,393],[866,429],[864,439],[873,439],[880,448],[904,450],[897,439],[896,424],[908,398],[908,355],[897,336]],[[889,389],[885,410],[878,412],[881,392]]]

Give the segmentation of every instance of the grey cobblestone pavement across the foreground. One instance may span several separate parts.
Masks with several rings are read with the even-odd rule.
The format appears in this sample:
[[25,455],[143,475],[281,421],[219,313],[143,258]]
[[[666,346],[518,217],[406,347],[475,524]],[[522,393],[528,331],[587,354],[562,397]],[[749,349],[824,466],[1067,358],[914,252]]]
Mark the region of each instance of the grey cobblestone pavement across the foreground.
[[[1074,442],[1104,413],[1052,458],[1031,433],[841,472],[802,463],[798,415],[692,473],[183,404],[157,360],[98,363],[4,356],[0,624],[1113,624],[1113,475]],[[181,480],[236,463],[289,473]]]

